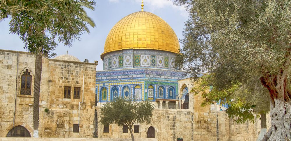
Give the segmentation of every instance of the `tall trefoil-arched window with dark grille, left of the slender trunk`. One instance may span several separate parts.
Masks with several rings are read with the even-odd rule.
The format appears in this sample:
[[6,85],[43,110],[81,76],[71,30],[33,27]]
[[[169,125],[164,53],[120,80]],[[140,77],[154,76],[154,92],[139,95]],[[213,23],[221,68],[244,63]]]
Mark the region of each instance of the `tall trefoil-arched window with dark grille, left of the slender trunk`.
[[23,75],[21,75],[20,87],[21,95],[31,95],[31,75],[30,72],[28,72],[28,69],[26,69],[25,72],[23,72]]

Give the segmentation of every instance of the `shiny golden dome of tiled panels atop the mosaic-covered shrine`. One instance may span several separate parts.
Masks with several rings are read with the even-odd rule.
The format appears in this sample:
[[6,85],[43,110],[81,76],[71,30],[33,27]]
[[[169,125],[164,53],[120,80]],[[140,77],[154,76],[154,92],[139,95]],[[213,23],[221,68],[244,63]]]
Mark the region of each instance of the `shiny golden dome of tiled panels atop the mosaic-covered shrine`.
[[174,30],[160,17],[139,11],[127,15],[110,30],[104,46],[106,53],[123,49],[154,49],[179,53]]

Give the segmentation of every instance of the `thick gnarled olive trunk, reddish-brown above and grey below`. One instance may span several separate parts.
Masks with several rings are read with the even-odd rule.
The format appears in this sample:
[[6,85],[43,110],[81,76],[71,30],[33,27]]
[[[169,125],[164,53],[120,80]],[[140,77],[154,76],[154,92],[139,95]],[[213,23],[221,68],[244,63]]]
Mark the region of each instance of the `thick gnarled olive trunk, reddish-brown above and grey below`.
[[262,84],[270,93],[270,116],[272,124],[262,139],[263,141],[285,141],[291,139],[291,92],[287,85],[287,73],[288,68],[286,67],[285,69],[281,69],[281,72],[277,75],[261,77]]

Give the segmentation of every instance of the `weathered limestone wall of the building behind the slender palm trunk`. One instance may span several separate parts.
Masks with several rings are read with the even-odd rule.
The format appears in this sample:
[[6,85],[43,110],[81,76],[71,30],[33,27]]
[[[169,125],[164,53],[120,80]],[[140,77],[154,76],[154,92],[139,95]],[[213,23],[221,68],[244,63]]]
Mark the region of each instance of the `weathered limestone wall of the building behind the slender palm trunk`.
[[[17,59],[18,57],[18,59]],[[18,61],[17,61],[18,60]],[[33,80],[35,56],[26,52],[0,50],[0,137],[6,137],[14,126],[21,125],[33,135]],[[43,59],[40,87],[40,137],[91,137],[95,110],[95,63]],[[28,69],[32,75],[31,95],[20,95],[21,75]],[[79,102],[74,87],[83,91],[80,103],[80,131],[73,133],[79,122]],[[71,98],[64,98],[64,86],[71,86]],[[15,97],[16,95],[16,97]],[[15,103],[16,99],[16,103]],[[48,108],[49,112],[44,112]]]

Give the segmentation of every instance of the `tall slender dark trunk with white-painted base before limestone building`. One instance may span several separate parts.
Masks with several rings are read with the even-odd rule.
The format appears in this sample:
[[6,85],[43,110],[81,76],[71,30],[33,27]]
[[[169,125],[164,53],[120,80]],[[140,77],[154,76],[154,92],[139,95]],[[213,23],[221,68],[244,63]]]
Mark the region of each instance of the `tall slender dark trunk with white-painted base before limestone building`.
[[42,69],[42,53],[36,54],[34,66],[34,88],[33,88],[33,137],[38,138],[38,120],[39,120],[39,93],[40,79]]

